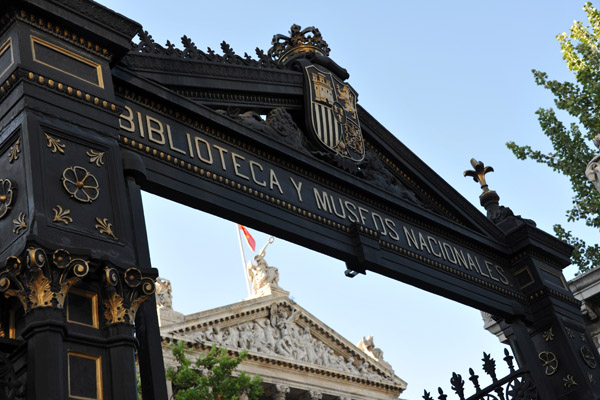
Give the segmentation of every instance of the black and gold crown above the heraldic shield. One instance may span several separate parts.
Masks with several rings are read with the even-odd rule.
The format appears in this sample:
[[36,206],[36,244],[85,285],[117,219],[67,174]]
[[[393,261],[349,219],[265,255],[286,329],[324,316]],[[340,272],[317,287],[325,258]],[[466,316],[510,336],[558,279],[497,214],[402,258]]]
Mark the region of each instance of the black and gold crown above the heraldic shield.
[[321,32],[314,26],[302,29],[300,25],[292,25],[290,36],[275,35],[268,55],[278,64],[286,64],[298,56],[307,53],[329,55],[329,46],[323,40]]

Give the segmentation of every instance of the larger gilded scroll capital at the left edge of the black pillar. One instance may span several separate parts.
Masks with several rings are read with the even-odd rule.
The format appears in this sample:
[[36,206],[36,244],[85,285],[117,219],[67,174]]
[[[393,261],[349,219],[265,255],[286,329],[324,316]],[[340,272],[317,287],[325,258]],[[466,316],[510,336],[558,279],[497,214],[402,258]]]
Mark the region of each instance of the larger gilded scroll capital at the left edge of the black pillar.
[[0,272],[0,293],[16,297],[25,312],[38,307],[62,309],[69,288],[84,278],[89,262],[56,250],[49,260],[46,252],[29,248],[19,257],[11,256]]

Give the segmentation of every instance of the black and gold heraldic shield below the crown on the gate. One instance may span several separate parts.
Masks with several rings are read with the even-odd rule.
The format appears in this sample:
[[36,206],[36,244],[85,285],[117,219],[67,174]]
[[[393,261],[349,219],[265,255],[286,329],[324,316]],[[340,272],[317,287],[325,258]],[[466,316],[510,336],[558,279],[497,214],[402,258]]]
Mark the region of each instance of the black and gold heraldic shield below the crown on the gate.
[[334,74],[314,65],[304,68],[308,127],[328,149],[362,161],[365,143],[358,122],[357,94]]

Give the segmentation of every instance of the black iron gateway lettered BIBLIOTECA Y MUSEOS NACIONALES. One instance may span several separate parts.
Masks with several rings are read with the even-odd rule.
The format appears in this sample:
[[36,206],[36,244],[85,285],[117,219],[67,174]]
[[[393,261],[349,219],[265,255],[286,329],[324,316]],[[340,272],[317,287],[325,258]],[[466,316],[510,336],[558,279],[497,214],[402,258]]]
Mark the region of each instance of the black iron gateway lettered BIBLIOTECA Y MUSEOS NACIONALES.
[[252,59],[162,47],[91,1],[0,11],[0,340],[18,395],[135,398],[137,351],[144,398],[166,398],[144,189],[490,312],[540,398],[600,398],[571,249],[501,207],[475,161],[488,218],[474,209],[357,104],[318,30]]

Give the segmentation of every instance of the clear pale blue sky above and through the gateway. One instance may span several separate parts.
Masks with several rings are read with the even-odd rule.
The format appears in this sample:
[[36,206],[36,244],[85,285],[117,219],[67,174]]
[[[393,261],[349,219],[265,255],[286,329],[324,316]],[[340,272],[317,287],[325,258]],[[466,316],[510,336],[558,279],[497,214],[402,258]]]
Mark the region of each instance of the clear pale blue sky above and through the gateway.
[[[551,107],[552,97],[535,85],[531,69],[571,79],[555,36],[574,19],[585,20],[583,2],[100,3],[141,23],[158,43],[187,35],[199,48],[220,49],[225,40],[238,54],[266,51],[272,36],[293,23],[314,25],[331,58],[350,73],[359,103],[475,206],[479,185],[463,177],[472,157],[494,167],[488,184],[515,214],[548,232],[565,222],[567,179],[517,160],[505,143],[551,149],[535,111]],[[233,223],[150,195],[144,201],[153,266],[172,281],[177,310],[197,312],[246,296]],[[591,242],[597,238],[569,227]],[[262,246],[268,235],[252,232]],[[279,268],[281,286],[330,327],[354,343],[374,335],[408,382],[403,398],[419,399],[424,388],[437,386],[450,392],[453,371],[481,372],[483,351],[503,363],[502,346],[482,329],[477,310],[373,273],[345,278],[342,263],[278,239],[267,261]]]

